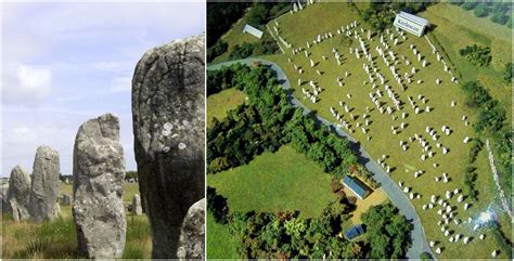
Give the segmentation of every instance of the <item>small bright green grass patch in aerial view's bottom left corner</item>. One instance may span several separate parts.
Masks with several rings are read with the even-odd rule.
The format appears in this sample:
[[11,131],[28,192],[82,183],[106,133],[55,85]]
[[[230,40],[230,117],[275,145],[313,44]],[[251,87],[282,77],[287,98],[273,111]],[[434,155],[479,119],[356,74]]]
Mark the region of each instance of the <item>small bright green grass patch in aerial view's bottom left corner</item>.
[[207,214],[207,258],[236,259],[237,238],[229,231],[228,225],[216,223],[213,216]]

